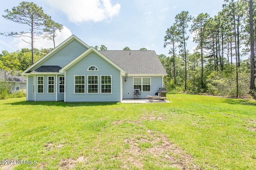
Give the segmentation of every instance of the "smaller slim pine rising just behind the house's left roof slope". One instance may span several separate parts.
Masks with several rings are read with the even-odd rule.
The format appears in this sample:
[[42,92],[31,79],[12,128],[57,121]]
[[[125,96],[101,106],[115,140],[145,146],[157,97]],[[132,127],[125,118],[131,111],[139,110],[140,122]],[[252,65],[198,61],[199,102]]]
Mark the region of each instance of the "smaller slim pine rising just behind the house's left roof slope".
[[60,23],[56,23],[53,20],[46,20],[45,23],[45,28],[44,33],[43,33],[43,38],[47,38],[48,40],[52,40],[53,41],[53,45],[55,48],[55,37],[56,35],[56,31],[61,31],[63,29],[63,25]]

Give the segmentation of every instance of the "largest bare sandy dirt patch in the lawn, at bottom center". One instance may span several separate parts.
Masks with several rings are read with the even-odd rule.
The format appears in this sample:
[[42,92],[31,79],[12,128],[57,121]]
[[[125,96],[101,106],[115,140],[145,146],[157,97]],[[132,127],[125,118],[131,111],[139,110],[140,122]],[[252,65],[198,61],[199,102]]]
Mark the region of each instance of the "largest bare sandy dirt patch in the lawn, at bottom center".
[[[146,135],[136,135],[132,139],[124,139],[129,147],[118,157],[123,164],[123,168],[129,169],[130,166],[142,168],[146,155],[150,155],[156,160],[154,164],[159,166],[177,167],[182,170],[199,170],[193,163],[191,155],[186,154],[184,150],[172,143],[168,137],[158,131],[146,130]],[[140,143],[149,143],[149,147],[141,148]]]

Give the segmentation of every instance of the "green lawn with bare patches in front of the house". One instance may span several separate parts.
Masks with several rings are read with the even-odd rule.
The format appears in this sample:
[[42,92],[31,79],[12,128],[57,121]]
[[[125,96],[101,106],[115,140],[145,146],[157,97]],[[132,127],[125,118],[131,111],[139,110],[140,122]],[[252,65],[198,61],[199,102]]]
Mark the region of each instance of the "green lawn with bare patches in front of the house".
[[167,95],[172,103],[1,100],[0,160],[23,164],[0,168],[255,169],[255,101]]

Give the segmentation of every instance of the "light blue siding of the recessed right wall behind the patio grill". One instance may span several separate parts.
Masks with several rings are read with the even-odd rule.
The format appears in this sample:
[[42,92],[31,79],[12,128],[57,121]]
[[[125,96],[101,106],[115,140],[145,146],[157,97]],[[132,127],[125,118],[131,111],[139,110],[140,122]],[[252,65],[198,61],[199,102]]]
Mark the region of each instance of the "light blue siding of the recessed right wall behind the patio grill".
[[[136,76],[136,77],[151,77],[151,92],[141,92],[141,97],[155,96],[158,88],[162,87],[162,76]],[[123,77],[123,99],[133,98],[133,78],[128,76],[127,81],[124,82]]]

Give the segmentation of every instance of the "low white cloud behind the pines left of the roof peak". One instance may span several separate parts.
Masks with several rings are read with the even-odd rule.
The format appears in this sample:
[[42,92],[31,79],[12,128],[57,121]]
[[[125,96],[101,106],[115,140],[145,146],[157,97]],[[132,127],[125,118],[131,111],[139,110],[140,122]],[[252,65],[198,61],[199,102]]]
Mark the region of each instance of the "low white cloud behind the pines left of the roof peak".
[[[72,35],[70,29],[67,27],[63,26],[62,31],[57,31],[56,32],[57,37],[55,38],[55,46],[57,47],[60,43],[65,41],[68,37]],[[35,37],[35,43],[34,43],[34,48],[40,49],[40,48],[53,48],[53,41],[50,41],[48,39],[43,39],[40,36]],[[20,38],[14,38],[11,45],[14,46],[16,49],[22,49],[22,48],[31,48],[31,45],[26,43],[30,42],[29,37],[20,37]]]

